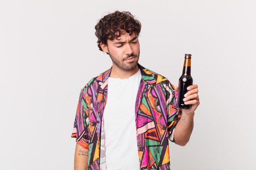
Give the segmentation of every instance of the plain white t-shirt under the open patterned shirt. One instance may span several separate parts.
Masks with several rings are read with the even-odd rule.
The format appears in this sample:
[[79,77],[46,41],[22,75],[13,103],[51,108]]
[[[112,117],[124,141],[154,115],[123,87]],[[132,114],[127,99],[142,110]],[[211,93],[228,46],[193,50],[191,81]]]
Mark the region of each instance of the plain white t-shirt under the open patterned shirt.
[[103,113],[107,170],[140,170],[135,125],[140,80],[140,70],[127,79],[108,77]]

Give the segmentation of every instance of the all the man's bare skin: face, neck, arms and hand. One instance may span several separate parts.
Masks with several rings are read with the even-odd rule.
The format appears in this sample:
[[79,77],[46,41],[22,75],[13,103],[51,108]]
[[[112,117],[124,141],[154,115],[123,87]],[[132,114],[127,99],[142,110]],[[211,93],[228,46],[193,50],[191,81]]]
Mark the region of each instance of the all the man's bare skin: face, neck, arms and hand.
[[[107,44],[101,43],[104,52],[109,53],[112,60],[112,71],[110,77],[125,79],[139,70],[137,63],[139,61],[139,40],[135,33],[132,35],[122,34],[118,40],[108,40]],[[131,60],[126,60],[133,57]],[[178,86],[175,86],[178,93]],[[179,121],[173,132],[176,144],[185,146],[193,130],[193,117],[195,110],[200,104],[198,97],[198,85],[194,84],[188,87],[185,94],[185,104],[191,104],[190,109],[182,110],[181,121]],[[87,170],[88,150],[76,144],[74,170]]]

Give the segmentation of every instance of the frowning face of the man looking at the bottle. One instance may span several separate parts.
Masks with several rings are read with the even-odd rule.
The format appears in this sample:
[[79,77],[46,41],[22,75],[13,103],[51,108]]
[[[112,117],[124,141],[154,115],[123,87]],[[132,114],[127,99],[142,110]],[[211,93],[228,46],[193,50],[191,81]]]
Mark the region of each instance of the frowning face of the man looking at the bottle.
[[118,68],[125,71],[136,68],[139,61],[139,40],[134,32],[132,35],[121,34],[118,40],[108,40],[108,45],[103,45],[101,48],[109,53],[113,65]]

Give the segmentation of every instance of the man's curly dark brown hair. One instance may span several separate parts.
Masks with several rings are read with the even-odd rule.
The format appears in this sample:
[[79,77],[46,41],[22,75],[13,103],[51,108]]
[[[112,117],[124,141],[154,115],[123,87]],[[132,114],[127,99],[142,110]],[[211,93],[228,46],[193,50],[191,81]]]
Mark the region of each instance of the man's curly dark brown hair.
[[99,50],[103,51],[100,46],[101,42],[108,45],[107,40],[114,40],[114,38],[118,40],[120,35],[126,32],[129,35],[132,35],[133,32],[139,35],[141,23],[129,11],[115,11],[101,18],[95,29]]

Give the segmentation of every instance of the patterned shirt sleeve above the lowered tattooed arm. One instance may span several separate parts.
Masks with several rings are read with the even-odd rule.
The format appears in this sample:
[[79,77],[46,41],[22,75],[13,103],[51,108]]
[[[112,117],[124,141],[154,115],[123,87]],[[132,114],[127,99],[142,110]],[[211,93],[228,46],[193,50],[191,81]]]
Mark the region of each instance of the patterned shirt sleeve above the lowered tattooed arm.
[[88,149],[88,132],[86,121],[88,118],[88,107],[85,101],[86,88],[81,89],[79,101],[76,108],[76,117],[71,137],[76,138],[76,143]]

